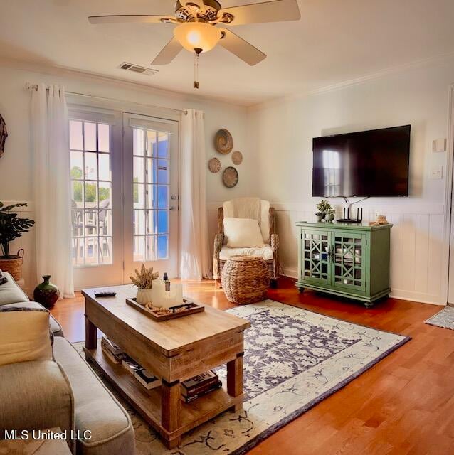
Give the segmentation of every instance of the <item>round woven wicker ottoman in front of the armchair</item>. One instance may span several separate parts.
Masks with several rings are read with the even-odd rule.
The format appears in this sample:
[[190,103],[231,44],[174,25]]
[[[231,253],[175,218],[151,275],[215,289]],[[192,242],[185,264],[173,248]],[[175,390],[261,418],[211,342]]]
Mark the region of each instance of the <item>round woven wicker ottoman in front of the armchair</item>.
[[270,271],[261,257],[232,256],[222,269],[222,287],[233,304],[253,304],[266,299]]

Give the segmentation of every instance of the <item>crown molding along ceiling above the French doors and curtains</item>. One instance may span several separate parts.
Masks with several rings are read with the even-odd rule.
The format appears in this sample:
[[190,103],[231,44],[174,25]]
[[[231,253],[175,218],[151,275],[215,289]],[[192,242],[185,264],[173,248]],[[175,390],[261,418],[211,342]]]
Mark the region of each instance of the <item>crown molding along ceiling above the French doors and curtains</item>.
[[125,80],[121,77],[110,75],[102,75],[86,70],[78,70],[60,65],[50,65],[48,63],[33,62],[30,60],[15,60],[13,58],[6,58],[0,56],[0,67],[14,68],[17,70],[31,71],[33,73],[61,76],[61,77],[75,77],[78,80],[87,80],[94,82],[108,83],[112,86],[120,87],[123,89],[135,90],[145,92],[148,95],[157,95],[161,97],[171,97],[176,100],[183,100],[184,102],[205,102],[211,105],[218,105],[220,102],[224,105],[232,107],[241,107],[245,109],[246,105],[235,104],[228,100],[226,97],[214,97],[208,95],[191,95],[187,92],[179,92],[176,90],[166,90],[154,85],[144,84],[142,82]]

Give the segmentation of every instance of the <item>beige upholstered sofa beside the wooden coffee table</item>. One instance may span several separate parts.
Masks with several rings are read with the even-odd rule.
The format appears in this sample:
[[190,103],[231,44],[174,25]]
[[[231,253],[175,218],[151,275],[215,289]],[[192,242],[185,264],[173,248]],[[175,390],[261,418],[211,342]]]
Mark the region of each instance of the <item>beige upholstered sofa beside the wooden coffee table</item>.
[[[0,306],[40,307],[28,300],[11,275],[0,285]],[[1,314],[0,314],[1,317]],[[63,337],[52,316],[55,361],[38,360],[0,366],[0,438],[4,430],[60,427],[91,438],[68,441],[75,454],[134,454],[134,429],[120,403],[88,363]],[[20,328],[19,328],[20,329]],[[1,333],[0,333],[1,343]]]

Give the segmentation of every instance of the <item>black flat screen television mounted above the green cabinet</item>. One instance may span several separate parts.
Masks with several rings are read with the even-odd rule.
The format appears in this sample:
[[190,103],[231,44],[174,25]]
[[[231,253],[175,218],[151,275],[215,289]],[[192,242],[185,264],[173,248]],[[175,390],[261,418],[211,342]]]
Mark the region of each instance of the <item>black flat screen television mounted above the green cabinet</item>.
[[315,137],[312,196],[408,196],[410,129]]

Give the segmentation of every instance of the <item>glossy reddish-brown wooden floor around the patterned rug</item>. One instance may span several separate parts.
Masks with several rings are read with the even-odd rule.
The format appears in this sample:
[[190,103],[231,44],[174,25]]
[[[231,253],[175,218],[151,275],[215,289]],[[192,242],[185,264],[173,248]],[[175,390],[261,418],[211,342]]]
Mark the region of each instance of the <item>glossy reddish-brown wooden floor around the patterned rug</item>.
[[[185,294],[218,309],[233,306],[213,282],[184,282]],[[305,291],[290,279],[270,299],[393,331],[413,339],[339,392],[252,449],[252,455],[454,455],[454,331],[423,321],[440,306],[388,299],[374,309]],[[85,338],[83,298],[53,315],[70,341]]]

